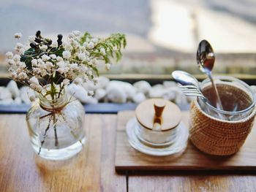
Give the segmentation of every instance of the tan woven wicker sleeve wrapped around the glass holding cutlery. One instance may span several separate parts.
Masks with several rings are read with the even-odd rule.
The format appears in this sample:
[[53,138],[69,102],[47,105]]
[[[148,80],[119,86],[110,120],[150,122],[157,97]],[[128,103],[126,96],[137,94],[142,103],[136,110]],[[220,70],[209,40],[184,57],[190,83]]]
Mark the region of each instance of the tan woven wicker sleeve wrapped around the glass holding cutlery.
[[205,153],[231,155],[244,144],[255,115],[256,108],[249,117],[242,120],[219,120],[203,112],[195,100],[190,109],[190,140]]

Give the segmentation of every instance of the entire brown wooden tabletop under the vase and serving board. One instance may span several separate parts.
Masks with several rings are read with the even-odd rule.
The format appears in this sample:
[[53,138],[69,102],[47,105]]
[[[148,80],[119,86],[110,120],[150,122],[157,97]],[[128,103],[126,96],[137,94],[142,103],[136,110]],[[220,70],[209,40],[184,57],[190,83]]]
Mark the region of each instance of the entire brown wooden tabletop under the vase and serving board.
[[0,191],[256,191],[253,172],[117,174],[116,115],[86,115],[84,126],[83,151],[52,162],[33,152],[25,115],[0,115]]

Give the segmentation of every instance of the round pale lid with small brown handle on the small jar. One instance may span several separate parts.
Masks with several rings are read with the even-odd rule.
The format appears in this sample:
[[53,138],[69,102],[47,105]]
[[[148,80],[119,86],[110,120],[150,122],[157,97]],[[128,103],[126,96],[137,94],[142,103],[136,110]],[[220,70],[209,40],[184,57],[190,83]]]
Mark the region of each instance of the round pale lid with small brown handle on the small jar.
[[181,110],[165,99],[147,99],[138,105],[135,114],[142,126],[157,131],[168,131],[181,121]]

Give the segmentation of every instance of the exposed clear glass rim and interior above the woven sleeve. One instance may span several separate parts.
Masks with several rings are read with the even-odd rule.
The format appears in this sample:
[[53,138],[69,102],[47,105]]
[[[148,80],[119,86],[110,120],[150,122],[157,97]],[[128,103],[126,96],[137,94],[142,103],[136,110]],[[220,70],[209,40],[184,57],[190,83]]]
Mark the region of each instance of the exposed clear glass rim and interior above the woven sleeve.
[[198,98],[198,104],[208,115],[221,120],[241,120],[255,109],[255,93],[245,82],[234,77],[214,77],[223,110],[217,108],[217,96],[209,79],[201,82],[203,95],[208,101]]

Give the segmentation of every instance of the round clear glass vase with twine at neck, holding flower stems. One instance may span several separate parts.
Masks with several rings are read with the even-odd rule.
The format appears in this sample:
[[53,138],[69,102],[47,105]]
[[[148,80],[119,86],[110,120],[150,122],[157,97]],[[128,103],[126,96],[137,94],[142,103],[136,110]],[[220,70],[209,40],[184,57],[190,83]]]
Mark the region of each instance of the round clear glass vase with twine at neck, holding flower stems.
[[41,93],[26,115],[31,145],[42,158],[64,160],[82,150],[86,142],[84,109],[66,93],[49,99]]

